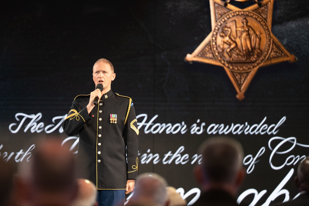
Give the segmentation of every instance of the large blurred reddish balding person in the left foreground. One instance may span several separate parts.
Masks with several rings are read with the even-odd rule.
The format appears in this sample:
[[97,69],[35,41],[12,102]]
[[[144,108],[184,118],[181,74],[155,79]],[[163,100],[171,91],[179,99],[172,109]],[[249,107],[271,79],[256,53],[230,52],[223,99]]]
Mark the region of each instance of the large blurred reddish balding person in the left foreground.
[[54,138],[40,142],[33,151],[30,162],[22,162],[19,171],[19,204],[70,205],[78,190],[74,155]]

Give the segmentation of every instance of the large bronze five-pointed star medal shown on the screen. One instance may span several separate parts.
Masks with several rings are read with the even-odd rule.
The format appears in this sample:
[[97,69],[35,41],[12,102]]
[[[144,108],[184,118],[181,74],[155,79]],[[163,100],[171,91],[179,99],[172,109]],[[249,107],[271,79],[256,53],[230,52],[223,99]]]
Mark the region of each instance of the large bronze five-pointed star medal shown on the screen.
[[245,9],[230,1],[210,0],[212,32],[185,60],[223,66],[243,100],[259,67],[297,58],[271,32],[274,0],[253,0],[256,4]]

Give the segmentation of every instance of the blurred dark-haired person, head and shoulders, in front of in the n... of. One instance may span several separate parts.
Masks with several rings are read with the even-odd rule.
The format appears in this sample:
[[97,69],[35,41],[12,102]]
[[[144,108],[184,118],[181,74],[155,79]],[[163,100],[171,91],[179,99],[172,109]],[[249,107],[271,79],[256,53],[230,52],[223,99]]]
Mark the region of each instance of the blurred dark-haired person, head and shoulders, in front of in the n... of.
[[212,137],[201,145],[199,153],[202,164],[196,167],[195,176],[202,194],[193,206],[238,206],[235,195],[245,176],[240,143],[229,137]]

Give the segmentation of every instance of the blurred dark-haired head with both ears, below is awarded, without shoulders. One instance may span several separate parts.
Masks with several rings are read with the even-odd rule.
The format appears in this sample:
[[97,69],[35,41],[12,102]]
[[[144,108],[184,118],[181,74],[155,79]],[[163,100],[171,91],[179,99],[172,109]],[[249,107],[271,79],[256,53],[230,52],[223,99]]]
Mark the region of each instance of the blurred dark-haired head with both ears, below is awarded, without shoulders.
[[241,144],[230,137],[211,137],[199,152],[202,164],[195,174],[203,190],[222,189],[235,195],[245,175]]

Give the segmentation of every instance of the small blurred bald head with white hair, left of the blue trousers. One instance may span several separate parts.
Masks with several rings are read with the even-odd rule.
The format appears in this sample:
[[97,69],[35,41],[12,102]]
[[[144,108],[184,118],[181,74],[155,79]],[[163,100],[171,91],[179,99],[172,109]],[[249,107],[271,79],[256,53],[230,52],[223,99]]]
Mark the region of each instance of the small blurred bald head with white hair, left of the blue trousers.
[[96,206],[97,190],[95,185],[87,179],[78,179],[78,193],[72,206]]

